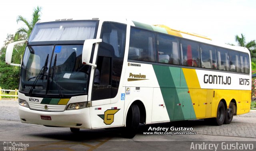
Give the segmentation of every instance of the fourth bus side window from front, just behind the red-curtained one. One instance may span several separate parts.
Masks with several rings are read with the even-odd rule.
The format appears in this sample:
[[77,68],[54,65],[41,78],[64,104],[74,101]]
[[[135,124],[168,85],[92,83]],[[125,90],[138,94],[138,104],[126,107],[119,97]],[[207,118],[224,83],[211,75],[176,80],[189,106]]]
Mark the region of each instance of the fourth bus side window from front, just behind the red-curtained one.
[[201,45],[202,68],[217,69],[216,50],[209,45]]

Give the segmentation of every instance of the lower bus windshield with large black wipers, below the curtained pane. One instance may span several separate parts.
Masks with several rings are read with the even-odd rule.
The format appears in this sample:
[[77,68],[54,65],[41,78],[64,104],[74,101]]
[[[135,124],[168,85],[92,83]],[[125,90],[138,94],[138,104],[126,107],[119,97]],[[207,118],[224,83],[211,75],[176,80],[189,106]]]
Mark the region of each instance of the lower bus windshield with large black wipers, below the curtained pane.
[[20,90],[52,96],[85,94],[89,66],[82,65],[82,48],[83,45],[26,47]]

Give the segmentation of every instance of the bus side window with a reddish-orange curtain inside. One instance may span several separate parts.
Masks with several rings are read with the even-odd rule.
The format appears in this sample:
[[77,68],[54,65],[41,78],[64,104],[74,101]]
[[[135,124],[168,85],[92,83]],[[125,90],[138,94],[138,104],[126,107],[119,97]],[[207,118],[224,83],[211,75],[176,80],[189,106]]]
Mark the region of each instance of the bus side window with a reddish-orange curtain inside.
[[199,67],[199,47],[198,43],[181,40],[181,63],[189,67]]

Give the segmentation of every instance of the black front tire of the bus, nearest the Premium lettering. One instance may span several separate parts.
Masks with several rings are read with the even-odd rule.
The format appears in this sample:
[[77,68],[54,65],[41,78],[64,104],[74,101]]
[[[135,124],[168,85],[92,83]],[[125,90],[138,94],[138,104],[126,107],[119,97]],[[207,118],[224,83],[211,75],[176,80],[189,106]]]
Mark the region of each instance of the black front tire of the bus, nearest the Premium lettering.
[[137,104],[132,104],[126,117],[126,127],[122,127],[122,137],[133,138],[140,125],[140,108]]

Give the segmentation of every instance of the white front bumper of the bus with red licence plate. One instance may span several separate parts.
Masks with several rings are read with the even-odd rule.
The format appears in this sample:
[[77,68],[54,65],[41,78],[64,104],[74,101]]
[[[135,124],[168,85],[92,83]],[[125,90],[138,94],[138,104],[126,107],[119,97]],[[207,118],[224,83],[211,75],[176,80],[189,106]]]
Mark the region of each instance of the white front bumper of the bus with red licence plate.
[[45,112],[31,110],[19,105],[20,121],[44,126],[74,127],[91,129],[90,108],[65,110],[64,112]]

